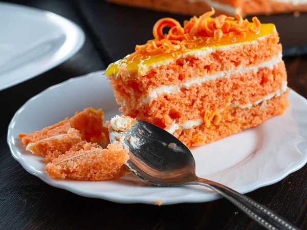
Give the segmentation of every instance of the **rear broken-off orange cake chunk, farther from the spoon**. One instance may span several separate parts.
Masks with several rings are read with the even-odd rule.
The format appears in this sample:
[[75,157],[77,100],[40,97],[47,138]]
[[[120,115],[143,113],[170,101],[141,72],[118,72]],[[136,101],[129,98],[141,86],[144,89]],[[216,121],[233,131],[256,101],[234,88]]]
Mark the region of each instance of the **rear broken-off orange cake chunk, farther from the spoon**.
[[101,109],[86,108],[78,111],[72,118],[66,118],[57,124],[48,126],[29,134],[20,133],[21,143],[27,150],[36,155],[55,155],[69,150],[73,144],[85,140],[97,142],[102,146],[109,143],[108,131],[103,126],[103,112]]

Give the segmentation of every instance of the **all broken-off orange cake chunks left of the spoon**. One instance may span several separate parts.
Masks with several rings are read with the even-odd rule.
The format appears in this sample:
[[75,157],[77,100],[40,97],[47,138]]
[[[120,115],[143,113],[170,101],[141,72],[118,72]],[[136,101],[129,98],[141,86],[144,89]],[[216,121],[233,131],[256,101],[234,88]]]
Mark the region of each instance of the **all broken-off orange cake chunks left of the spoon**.
[[72,118],[32,133],[20,133],[25,149],[45,156],[47,174],[56,179],[103,181],[117,179],[128,170],[128,150],[109,143],[101,109],[85,108]]

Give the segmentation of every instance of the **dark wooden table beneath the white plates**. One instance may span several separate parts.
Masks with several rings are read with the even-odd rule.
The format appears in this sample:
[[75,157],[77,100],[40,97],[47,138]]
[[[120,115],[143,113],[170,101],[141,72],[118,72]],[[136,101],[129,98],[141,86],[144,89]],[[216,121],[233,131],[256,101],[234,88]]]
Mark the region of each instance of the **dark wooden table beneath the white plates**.
[[[75,56],[47,73],[0,91],[0,229],[260,229],[225,199],[168,206],[119,204],[51,187],[27,173],[13,159],[6,143],[7,127],[15,111],[43,89],[103,70],[107,64],[132,52],[136,43],[151,38],[153,23],[169,14],[94,0],[11,2],[49,10],[77,22],[85,31],[86,42]],[[179,20],[187,18],[175,16]],[[289,86],[307,97],[307,57],[303,56],[307,33],[303,28],[297,31],[290,27],[294,34],[289,35],[282,27],[294,20],[295,25],[306,26],[307,14],[302,14],[301,20],[293,19],[292,15],[271,19],[280,28]],[[307,166],[304,166],[280,182],[247,195],[301,229],[307,229],[306,176]]]

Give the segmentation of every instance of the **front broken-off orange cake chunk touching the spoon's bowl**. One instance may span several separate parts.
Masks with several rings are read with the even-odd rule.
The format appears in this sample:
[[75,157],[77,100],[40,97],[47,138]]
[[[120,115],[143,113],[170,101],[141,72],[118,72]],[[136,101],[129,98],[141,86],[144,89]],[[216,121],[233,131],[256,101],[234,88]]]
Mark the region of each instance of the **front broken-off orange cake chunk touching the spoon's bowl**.
[[115,142],[106,149],[85,141],[75,144],[45,167],[48,175],[57,179],[111,180],[123,176],[127,169],[128,149]]

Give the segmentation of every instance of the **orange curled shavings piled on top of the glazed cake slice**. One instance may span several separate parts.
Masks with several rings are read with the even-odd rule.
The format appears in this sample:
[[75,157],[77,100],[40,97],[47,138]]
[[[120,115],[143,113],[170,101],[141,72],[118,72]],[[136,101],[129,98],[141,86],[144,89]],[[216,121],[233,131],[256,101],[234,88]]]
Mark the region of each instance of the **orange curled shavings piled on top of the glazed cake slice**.
[[[254,24],[243,19],[240,14],[234,17],[220,15],[212,18],[214,9],[204,13],[200,17],[192,17],[184,21],[184,27],[173,18],[162,18],[153,26],[152,34],[155,39],[148,40],[144,45],[136,45],[136,51],[127,57],[128,61],[142,59],[146,56],[163,53],[186,52],[196,47],[197,44],[210,40],[220,41],[222,38],[246,37],[247,33],[258,34],[260,21],[253,17]],[[163,34],[164,28],[170,28],[167,34]]]

